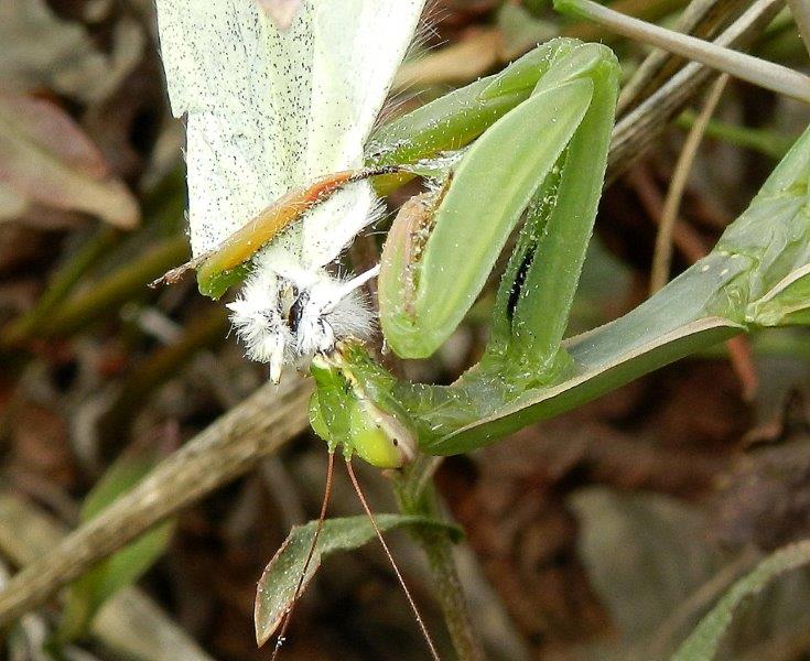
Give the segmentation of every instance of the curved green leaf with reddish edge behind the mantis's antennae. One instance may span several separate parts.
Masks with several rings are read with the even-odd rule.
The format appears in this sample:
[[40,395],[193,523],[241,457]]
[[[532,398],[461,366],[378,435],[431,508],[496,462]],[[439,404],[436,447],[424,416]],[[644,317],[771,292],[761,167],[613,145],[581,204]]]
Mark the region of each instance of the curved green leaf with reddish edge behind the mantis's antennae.
[[[396,528],[428,528],[445,531],[454,541],[457,541],[462,534],[456,527],[428,517],[377,514],[375,520],[381,531]],[[316,525],[317,521],[310,521],[305,525],[293,528],[259,579],[253,619],[256,640],[260,646],[264,644],[273,635],[281,624],[284,613],[292,604]],[[324,521],[301,590],[303,592],[312,581],[324,555],[357,549],[375,539],[375,537],[371,522],[365,516]]]

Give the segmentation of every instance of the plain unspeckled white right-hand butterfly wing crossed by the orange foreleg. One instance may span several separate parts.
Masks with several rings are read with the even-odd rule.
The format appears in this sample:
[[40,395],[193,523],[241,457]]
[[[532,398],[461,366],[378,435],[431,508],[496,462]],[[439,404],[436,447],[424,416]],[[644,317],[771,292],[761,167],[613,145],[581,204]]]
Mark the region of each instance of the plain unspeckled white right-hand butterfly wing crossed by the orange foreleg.
[[[321,0],[314,4],[311,122],[304,181],[363,166],[363,149],[425,0]],[[353,184],[306,215],[303,259],[334,260],[374,219],[368,183]]]

